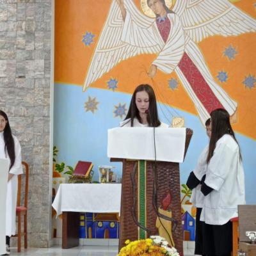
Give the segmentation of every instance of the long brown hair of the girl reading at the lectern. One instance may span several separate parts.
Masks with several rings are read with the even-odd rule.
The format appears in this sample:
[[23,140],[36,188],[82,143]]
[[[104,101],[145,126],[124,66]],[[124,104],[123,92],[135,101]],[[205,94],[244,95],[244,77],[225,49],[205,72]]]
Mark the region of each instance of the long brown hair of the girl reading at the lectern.
[[140,113],[136,106],[136,93],[143,92],[143,91],[148,93],[148,99],[149,99],[149,108],[148,108],[148,115],[147,115],[148,126],[158,127],[161,124],[161,122],[159,121],[158,114],[157,114],[156,95],[154,93],[153,88],[149,84],[140,84],[134,90],[134,93],[132,94],[129,110],[124,120],[131,118],[131,127],[133,127],[134,118],[137,118],[141,123]]

